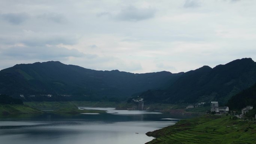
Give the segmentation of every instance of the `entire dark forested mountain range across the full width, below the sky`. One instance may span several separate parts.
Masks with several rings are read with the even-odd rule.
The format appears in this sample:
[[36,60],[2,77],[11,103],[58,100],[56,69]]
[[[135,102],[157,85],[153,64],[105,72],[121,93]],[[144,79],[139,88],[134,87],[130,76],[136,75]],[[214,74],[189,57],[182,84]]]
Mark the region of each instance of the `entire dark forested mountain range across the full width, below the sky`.
[[[124,71],[97,71],[58,61],[17,64],[0,71],[0,94],[58,95],[69,100],[129,96],[145,101],[194,103],[219,101],[256,82],[256,62],[237,59],[214,68],[203,66],[186,73],[167,71],[134,74]],[[40,99],[38,99],[40,100]],[[41,99],[45,100],[45,99]]]

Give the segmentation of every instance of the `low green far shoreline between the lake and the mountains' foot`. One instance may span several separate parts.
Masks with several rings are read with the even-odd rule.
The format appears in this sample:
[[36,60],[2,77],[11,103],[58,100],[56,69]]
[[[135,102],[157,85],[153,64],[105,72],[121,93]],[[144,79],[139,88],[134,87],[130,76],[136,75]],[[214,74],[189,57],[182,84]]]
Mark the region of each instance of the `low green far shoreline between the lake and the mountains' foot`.
[[[90,102],[90,101],[56,101],[56,102],[24,102],[23,105],[0,105],[0,114],[34,114],[34,113],[104,113],[104,111],[78,110],[77,107],[115,107],[116,110],[128,110],[133,107],[133,103],[126,102]],[[199,116],[202,112],[193,112],[185,109],[182,104],[147,104],[145,110],[157,111],[161,113],[179,114],[184,116]],[[45,111],[51,110],[51,111]]]

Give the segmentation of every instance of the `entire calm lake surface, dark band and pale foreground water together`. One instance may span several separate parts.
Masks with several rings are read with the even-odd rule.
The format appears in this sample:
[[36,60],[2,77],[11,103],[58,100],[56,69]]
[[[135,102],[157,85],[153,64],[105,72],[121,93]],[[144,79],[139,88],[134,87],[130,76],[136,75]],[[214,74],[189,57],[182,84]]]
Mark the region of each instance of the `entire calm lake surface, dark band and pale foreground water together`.
[[107,113],[0,118],[0,144],[144,144],[153,139],[146,132],[184,118],[158,112],[80,107],[83,108]]

